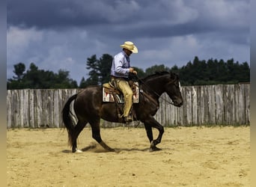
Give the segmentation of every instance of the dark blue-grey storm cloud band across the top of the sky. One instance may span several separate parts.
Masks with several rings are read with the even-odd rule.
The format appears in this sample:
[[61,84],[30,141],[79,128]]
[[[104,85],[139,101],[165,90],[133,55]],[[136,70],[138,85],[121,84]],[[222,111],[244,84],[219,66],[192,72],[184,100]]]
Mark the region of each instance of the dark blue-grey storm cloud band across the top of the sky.
[[[8,25],[39,29],[83,27],[88,31],[117,37],[124,37],[127,33],[132,37],[168,37],[218,29],[231,31],[234,27],[249,29],[249,20],[244,20],[249,19],[249,11],[243,5],[248,1],[227,2],[208,5],[206,1],[185,3],[168,0],[10,0],[7,4],[7,22]],[[225,7],[225,4],[221,6],[223,3],[230,7]],[[242,6],[237,10],[242,17],[238,20],[235,14],[229,14],[232,11],[229,8],[236,10],[240,4]],[[223,7],[225,9],[220,9]]]

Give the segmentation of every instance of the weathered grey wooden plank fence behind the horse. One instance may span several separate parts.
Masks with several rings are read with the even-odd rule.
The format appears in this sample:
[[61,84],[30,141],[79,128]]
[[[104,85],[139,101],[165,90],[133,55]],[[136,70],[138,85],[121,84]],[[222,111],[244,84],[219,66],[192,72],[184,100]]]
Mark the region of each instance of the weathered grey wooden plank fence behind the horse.
[[[79,89],[8,90],[7,128],[63,127],[62,107],[78,91]],[[188,86],[182,87],[181,92],[183,106],[180,108],[166,102],[170,101],[166,93],[159,99],[160,108],[155,118],[163,126],[250,123],[249,84]],[[117,124],[113,123],[111,126]]]

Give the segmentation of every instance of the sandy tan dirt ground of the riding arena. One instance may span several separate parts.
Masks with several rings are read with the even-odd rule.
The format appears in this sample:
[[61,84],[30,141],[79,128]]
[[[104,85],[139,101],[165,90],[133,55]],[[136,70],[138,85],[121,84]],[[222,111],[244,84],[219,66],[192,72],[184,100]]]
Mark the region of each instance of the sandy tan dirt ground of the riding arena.
[[83,153],[71,153],[64,129],[7,130],[7,186],[250,186],[249,126],[165,128],[156,152],[141,128],[101,135],[115,153],[88,127]]

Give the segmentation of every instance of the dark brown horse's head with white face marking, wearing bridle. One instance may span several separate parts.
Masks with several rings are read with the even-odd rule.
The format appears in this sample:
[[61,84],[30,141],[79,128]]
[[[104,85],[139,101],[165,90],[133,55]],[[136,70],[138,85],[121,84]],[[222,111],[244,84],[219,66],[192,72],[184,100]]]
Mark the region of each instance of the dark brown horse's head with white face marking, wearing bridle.
[[175,106],[183,105],[183,98],[180,93],[180,81],[179,76],[176,73],[170,73],[168,82],[165,84],[165,92],[170,96]]

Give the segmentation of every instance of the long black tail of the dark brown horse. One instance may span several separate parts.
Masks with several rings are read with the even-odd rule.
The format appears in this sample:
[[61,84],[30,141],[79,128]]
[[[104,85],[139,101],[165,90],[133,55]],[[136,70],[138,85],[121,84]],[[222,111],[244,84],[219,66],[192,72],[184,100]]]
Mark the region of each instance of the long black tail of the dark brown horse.
[[68,143],[70,146],[73,145],[73,137],[75,133],[75,121],[72,117],[72,112],[70,111],[70,103],[73,102],[74,99],[76,99],[77,93],[73,96],[70,96],[70,98],[67,100],[67,102],[64,105],[64,108],[62,109],[62,121],[67,129],[68,133]]

